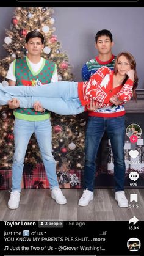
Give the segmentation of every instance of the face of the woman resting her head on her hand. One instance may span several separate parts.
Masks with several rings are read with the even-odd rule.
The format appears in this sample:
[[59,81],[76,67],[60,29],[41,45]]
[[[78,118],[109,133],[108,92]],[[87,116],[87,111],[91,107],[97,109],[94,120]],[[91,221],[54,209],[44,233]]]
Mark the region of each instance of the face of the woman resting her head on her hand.
[[117,71],[120,75],[124,76],[131,69],[128,59],[124,55],[118,58]]

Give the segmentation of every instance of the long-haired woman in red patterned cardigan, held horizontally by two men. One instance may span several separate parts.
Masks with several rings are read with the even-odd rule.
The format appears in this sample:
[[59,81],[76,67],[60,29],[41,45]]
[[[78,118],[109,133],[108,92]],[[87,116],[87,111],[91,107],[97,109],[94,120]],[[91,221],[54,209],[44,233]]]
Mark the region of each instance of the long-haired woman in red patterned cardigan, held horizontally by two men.
[[[121,68],[120,58],[126,60],[127,68]],[[56,114],[76,115],[86,111],[92,100],[98,108],[104,108],[122,104],[132,96],[136,98],[137,81],[134,57],[130,53],[120,53],[114,71],[103,66],[88,82],[52,82],[42,87],[0,86],[0,104],[6,105],[17,98],[20,107],[32,108],[35,101],[40,101],[43,108]]]

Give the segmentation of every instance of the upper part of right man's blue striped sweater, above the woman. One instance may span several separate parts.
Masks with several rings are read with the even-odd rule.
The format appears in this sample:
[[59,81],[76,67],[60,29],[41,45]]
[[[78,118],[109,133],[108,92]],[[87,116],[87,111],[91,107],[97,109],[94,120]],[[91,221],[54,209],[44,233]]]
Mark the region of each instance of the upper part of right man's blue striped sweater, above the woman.
[[88,60],[82,67],[82,81],[89,81],[92,76],[99,68],[106,66],[113,70],[115,65],[116,56],[112,55],[108,61],[99,60],[98,56],[95,59]]

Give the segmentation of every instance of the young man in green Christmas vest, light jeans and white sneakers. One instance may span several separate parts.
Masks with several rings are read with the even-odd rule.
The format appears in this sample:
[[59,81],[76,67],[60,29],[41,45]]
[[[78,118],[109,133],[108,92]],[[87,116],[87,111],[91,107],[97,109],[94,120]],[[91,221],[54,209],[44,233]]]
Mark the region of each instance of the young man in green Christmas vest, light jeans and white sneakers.
[[[44,37],[38,31],[30,31],[26,35],[27,56],[15,59],[10,64],[6,76],[9,79],[9,86],[35,86],[37,84],[42,86],[58,80],[56,64],[41,57],[41,51],[44,48],[43,43]],[[56,162],[51,153],[52,134],[49,112],[45,111],[38,103],[34,104],[34,109],[19,108],[19,101],[16,99],[9,101],[9,108],[14,109],[13,114],[15,115],[15,153],[12,164],[12,192],[10,192],[8,207],[10,209],[19,207],[24,156],[33,133],[35,133],[40,147],[52,191],[52,199],[60,205],[67,203],[61,189],[59,189]]]

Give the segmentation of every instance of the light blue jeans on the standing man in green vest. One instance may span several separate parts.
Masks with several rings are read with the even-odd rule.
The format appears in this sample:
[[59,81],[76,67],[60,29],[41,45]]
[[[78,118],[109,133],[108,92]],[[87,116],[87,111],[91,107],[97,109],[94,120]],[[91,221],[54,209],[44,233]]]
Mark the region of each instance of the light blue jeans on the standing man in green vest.
[[40,152],[43,158],[43,163],[46,170],[46,175],[49,180],[50,188],[58,187],[56,175],[56,162],[52,156],[52,135],[51,122],[49,119],[43,121],[26,121],[15,119],[14,136],[15,136],[15,153],[12,164],[12,192],[21,192],[21,178],[23,175],[24,157],[26,155],[29,139],[35,133]]

